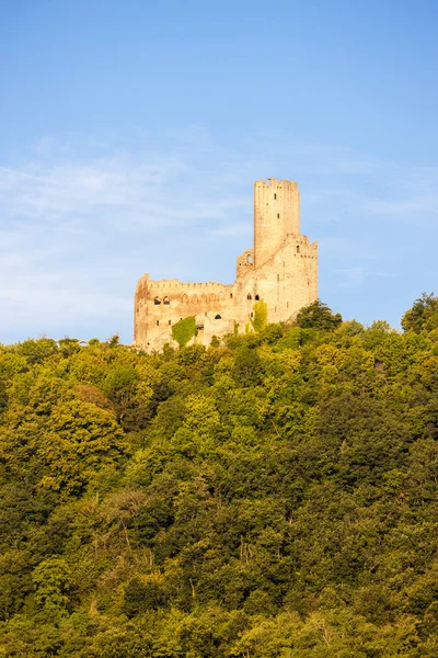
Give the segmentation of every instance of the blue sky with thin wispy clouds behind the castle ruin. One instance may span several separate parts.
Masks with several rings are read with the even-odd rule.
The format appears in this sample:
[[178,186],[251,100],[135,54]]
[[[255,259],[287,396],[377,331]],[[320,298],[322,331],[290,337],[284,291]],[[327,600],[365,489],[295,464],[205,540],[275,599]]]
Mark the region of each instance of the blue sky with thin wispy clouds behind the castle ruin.
[[137,279],[223,281],[298,181],[320,296],[438,293],[435,1],[0,2],[0,342],[132,338]]

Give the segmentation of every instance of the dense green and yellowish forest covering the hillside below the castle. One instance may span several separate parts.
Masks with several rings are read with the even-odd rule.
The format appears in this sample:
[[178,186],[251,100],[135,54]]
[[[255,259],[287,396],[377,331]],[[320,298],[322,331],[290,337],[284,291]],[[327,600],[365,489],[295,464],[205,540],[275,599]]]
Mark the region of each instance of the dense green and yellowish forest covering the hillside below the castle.
[[438,656],[438,299],[0,345],[0,657]]

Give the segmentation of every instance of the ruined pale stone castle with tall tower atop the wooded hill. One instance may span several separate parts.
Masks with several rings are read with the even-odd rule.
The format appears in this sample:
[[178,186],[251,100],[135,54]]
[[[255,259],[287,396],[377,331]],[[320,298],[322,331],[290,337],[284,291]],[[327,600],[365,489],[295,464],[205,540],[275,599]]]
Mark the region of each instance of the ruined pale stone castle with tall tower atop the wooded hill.
[[235,283],[153,281],[145,274],[135,293],[135,343],[148,352],[176,344],[172,326],[195,316],[193,342],[244,333],[254,304],[267,305],[269,322],[293,318],[318,297],[318,243],[300,234],[300,195],[291,181],[254,183],[254,248],[237,259]]

